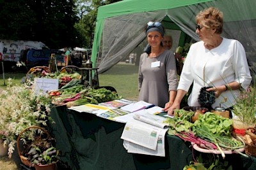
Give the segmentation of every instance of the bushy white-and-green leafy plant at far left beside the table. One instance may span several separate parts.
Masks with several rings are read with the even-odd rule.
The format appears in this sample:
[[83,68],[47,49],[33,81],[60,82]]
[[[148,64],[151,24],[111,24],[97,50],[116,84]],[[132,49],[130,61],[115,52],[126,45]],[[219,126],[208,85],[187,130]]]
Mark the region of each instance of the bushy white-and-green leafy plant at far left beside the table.
[[[12,85],[8,79],[8,87],[1,93],[0,103],[0,140],[8,145],[8,156],[12,157],[16,139],[20,132],[31,125],[44,126],[51,111],[51,98],[28,86]],[[26,139],[22,139],[26,141]]]

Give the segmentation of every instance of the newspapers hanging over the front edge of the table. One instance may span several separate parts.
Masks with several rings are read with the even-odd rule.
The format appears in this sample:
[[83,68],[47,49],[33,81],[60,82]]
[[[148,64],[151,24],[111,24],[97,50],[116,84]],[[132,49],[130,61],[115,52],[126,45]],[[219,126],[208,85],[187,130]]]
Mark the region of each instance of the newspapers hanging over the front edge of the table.
[[[168,131],[168,124],[164,124],[163,120],[163,117],[148,113],[144,115],[134,114],[133,119],[125,124],[121,136],[121,139],[124,139],[127,152],[163,155],[164,148],[161,147],[163,138],[161,136],[164,136]],[[155,121],[154,124],[152,121]],[[164,145],[162,146],[164,147]]]

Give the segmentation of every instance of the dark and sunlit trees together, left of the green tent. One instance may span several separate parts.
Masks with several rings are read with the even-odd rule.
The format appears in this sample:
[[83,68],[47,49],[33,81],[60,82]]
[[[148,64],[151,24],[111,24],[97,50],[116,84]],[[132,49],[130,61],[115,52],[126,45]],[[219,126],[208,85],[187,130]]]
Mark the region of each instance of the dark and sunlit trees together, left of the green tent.
[[97,9],[115,2],[0,0],[0,39],[42,41],[49,48],[92,47]]

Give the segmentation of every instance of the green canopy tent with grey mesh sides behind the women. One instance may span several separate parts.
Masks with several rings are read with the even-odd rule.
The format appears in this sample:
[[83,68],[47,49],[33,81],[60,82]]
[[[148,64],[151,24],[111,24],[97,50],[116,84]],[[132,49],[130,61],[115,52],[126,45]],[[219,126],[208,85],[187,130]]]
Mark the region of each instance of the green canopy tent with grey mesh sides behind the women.
[[[195,16],[200,10],[215,6],[223,11],[224,28],[221,36],[243,43],[250,69],[255,73],[256,6],[255,0],[124,0],[100,6],[92,48],[92,62],[103,73],[124,60],[134,49],[145,45],[145,25],[160,21],[165,29],[181,30],[194,41]],[[186,38],[180,33],[179,45]],[[140,56],[138,56],[140,57]]]

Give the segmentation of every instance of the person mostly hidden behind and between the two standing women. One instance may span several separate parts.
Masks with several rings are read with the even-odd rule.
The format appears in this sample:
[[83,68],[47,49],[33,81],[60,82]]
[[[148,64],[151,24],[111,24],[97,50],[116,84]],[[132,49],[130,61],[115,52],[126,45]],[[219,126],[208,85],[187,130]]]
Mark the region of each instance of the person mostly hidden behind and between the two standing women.
[[[172,43],[173,43],[173,39],[172,36],[166,36],[164,35],[163,38],[163,47],[166,50],[171,50],[172,48]],[[182,56],[179,55],[178,53],[175,53],[175,59],[176,59],[176,67],[177,67],[177,74],[180,75],[181,71],[182,71],[182,67],[183,67],[183,62],[182,62]]]

